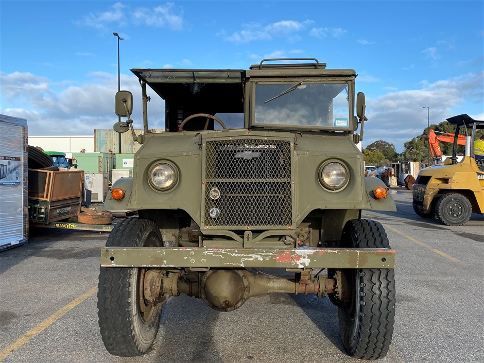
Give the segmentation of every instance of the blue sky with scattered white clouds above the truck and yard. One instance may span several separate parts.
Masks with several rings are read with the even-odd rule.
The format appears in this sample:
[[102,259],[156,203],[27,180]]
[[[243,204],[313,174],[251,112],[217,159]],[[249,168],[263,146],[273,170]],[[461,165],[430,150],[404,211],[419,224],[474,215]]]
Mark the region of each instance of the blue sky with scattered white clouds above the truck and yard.
[[[461,113],[484,119],[483,1],[1,0],[0,112],[27,118],[30,135],[111,129],[113,31],[124,38],[120,82],[136,98],[136,128],[141,88],[131,68],[247,69],[283,57],[358,73],[364,147],[385,140],[403,151],[427,126],[424,107],[430,124]],[[163,118],[149,127],[163,128]]]

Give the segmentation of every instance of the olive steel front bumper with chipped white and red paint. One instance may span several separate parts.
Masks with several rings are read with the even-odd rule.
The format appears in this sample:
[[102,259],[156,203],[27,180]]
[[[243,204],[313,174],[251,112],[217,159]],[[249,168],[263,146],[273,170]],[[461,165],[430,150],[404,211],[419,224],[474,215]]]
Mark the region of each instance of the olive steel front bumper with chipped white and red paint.
[[169,248],[101,249],[101,267],[155,268],[394,268],[395,251],[377,248]]

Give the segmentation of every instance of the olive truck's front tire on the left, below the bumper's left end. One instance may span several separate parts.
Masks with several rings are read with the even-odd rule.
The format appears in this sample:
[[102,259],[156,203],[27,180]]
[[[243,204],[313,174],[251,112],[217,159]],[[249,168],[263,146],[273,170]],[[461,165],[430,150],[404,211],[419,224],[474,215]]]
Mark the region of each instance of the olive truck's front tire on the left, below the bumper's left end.
[[[106,247],[161,247],[157,225],[143,218],[128,218],[116,224]],[[116,356],[146,353],[158,333],[161,305],[144,302],[146,269],[101,267],[98,285],[99,329],[106,349]]]

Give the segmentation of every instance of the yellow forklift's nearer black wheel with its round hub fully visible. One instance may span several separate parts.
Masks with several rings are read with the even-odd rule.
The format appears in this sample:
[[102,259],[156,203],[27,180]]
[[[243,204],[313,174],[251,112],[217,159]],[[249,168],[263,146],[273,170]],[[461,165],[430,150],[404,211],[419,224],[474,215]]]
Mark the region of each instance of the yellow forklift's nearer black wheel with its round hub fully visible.
[[471,218],[472,205],[462,194],[449,193],[439,198],[435,214],[446,226],[462,226]]

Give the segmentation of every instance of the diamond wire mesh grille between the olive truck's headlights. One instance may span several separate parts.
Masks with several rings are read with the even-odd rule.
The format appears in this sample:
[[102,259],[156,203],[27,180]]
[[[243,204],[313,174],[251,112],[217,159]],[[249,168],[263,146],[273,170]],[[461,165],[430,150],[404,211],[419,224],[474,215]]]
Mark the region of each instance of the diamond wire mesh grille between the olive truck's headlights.
[[205,226],[292,224],[290,141],[209,141],[205,155]]

